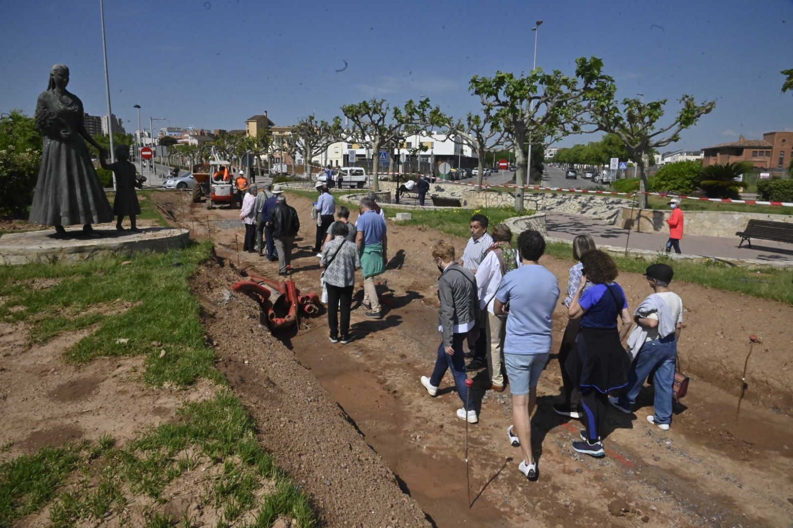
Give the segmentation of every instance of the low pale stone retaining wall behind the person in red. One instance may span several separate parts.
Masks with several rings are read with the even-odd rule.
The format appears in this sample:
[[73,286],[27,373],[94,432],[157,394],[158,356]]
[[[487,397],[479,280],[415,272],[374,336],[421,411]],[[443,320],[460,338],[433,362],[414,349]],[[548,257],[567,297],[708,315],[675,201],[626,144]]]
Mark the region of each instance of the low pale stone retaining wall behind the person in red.
[[[621,207],[615,220],[615,226],[633,229],[636,227],[636,218],[639,218],[640,231],[668,231],[666,220],[672,214],[671,210],[658,211],[651,209],[634,209]],[[683,203],[685,218],[684,236],[687,234],[701,234],[708,237],[735,237],[738,231],[744,230],[749,220],[770,220],[772,222],[793,223],[793,215],[769,215],[766,213],[741,213],[737,211],[686,211]]]

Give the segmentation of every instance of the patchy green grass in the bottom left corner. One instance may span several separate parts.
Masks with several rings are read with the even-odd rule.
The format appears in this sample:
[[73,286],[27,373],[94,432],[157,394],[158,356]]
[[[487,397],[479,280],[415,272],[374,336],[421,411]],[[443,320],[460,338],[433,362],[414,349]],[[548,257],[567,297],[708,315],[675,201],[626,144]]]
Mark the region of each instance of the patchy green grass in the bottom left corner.
[[[44,448],[0,465],[0,526],[47,503],[56,527],[123,516],[130,496],[164,503],[168,484],[208,465],[222,465],[222,470],[213,477],[206,473],[201,502],[221,512],[220,526],[256,509],[254,526],[270,526],[278,517],[314,526],[308,498],[259,445],[251,416],[230,391],[221,389],[209,401],[185,405],[180,415],[178,424],[157,427],[124,449],[105,437],[97,443]],[[67,478],[70,484],[63,485]],[[263,486],[268,488],[259,498]],[[154,508],[145,517],[146,526],[174,526],[180,520]],[[182,521],[192,526],[189,519]]]

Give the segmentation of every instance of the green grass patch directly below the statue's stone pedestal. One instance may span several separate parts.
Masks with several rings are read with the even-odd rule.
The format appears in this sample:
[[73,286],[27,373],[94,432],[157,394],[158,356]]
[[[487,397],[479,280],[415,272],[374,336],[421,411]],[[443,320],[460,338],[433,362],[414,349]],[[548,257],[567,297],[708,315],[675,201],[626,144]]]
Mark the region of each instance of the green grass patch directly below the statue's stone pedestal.
[[[0,317],[28,322],[36,343],[59,332],[98,325],[66,351],[66,358],[75,363],[99,356],[146,355],[145,379],[151,385],[188,386],[201,377],[221,382],[212,368],[214,352],[205,345],[198,303],[188,283],[210,248],[205,243],[141,253],[125,265],[112,258],[6,266],[0,268],[0,295],[8,296]],[[31,287],[42,280],[52,286]],[[155,341],[162,346],[153,347]],[[162,350],[166,353],[160,357]]]

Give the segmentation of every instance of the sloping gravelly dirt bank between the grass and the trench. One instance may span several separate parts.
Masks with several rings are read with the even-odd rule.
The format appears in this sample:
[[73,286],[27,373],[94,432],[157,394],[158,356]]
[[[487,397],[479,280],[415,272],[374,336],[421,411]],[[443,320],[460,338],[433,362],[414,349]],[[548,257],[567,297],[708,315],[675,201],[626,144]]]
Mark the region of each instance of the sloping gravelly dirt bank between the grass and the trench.
[[229,294],[232,268],[205,264],[193,288],[219,369],[250,409],[259,438],[308,492],[326,526],[431,526],[418,503],[316,378],[259,326],[259,306]]

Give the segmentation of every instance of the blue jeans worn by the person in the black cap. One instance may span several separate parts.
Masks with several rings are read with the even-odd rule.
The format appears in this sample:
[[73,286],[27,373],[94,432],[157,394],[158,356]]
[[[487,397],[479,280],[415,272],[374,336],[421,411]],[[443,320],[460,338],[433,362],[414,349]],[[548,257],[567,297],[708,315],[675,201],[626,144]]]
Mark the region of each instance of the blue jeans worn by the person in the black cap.
[[645,380],[655,370],[653,375],[655,417],[653,420],[657,424],[671,424],[672,385],[675,382],[676,357],[675,334],[643,344],[630,368],[628,386],[626,391],[619,396],[619,405],[631,408],[636,403],[639,393],[642,392]]

